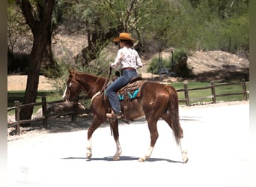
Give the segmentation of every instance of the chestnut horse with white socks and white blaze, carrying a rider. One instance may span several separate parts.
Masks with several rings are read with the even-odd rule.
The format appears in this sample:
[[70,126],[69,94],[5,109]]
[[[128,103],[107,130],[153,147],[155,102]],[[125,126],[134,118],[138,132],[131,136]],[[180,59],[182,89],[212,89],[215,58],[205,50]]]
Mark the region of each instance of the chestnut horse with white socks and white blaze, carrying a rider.
[[[87,158],[91,159],[92,156],[91,138],[94,131],[109,119],[116,144],[113,160],[119,160],[122,149],[119,142],[118,120],[106,117],[106,113],[111,110],[109,100],[106,99],[106,94],[103,91],[106,82],[108,82],[107,78],[90,73],[79,73],[74,70],[68,70],[68,72],[70,75],[63,94],[64,101],[72,101],[82,91],[91,98],[91,112],[94,117],[88,129]],[[157,82],[144,82],[143,87],[141,87],[141,97],[132,99],[129,105],[132,108],[129,119],[135,120],[138,117],[145,117],[150,131],[150,146],[144,156],[138,159],[139,162],[144,162],[151,156],[159,137],[156,126],[159,118],[165,120],[171,127],[177,146],[180,146],[183,163],[188,161],[186,151],[182,150],[180,144],[180,138],[183,138],[183,129],[180,126],[178,96],[174,87]],[[124,101],[121,101],[121,108],[124,110]]]

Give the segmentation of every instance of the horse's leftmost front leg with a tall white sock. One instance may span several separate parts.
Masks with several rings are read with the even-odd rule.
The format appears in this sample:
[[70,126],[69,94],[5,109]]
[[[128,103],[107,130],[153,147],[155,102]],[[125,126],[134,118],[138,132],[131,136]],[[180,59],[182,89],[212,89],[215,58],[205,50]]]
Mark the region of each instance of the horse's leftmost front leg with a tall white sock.
[[86,153],[86,157],[88,159],[91,158],[92,156],[92,152],[91,152],[91,136],[94,133],[94,131],[101,125],[101,123],[103,123],[104,120],[100,120],[98,119],[98,117],[95,115],[94,119],[92,120],[91,126],[88,129],[87,132],[87,153]]

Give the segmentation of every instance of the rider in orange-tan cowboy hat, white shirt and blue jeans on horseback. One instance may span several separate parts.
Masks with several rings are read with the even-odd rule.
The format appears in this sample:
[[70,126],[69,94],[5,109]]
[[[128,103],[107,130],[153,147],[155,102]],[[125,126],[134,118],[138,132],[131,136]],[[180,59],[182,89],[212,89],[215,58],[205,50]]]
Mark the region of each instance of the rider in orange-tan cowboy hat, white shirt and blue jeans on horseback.
[[120,49],[118,50],[115,61],[109,63],[109,65],[115,69],[121,67],[121,76],[106,88],[106,95],[112,106],[112,112],[107,113],[106,117],[120,119],[122,117],[122,111],[116,92],[127,85],[133,77],[138,76],[137,68],[142,67],[142,62],[138,56],[138,52],[132,49],[134,39],[132,39],[129,33],[120,33],[119,37],[116,37],[114,41],[119,43]]

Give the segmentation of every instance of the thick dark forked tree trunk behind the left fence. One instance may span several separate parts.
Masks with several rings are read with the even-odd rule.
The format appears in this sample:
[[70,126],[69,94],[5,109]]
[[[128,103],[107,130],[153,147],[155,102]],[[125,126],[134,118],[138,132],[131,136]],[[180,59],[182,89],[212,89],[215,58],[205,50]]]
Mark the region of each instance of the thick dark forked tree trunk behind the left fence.
[[[55,0],[33,2],[34,4],[31,4],[31,1],[28,0],[19,1],[22,13],[34,37],[23,104],[35,102],[37,98],[40,66],[43,60],[43,53],[47,48],[47,44],[49,44],[47,38],[50,38],[52,34],[52,10],[55,4]],[[34,5],[34,8],[32,5]],[[22,108],[20,118],[22,120],[31,119],[32,114],[33,107]]]

